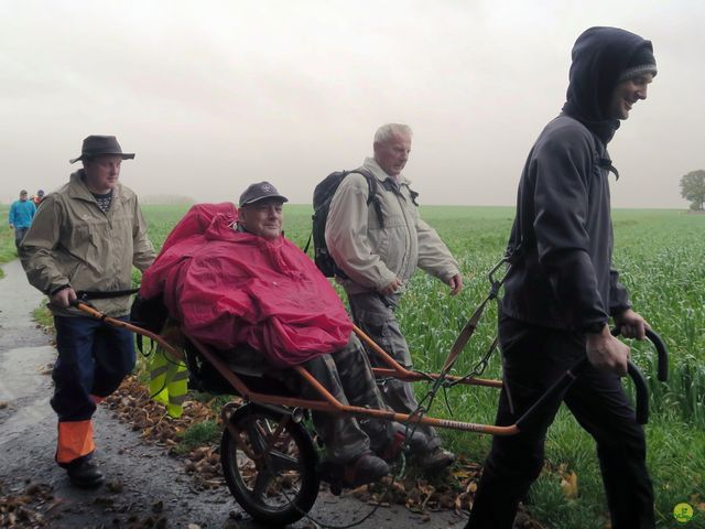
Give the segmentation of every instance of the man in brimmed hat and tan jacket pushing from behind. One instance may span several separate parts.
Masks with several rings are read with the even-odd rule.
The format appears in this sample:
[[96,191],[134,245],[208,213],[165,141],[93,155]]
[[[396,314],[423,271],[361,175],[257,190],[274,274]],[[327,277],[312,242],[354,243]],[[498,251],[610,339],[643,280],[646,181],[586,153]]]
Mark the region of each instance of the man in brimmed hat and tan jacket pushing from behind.
[[84,169],[42,203],[20,246],[30,283],[50,299],[58,357],[52,408],[58,415],[56,462],[74,485],[99,486],[104,478],[90,457],[96,403],[115,391],[134,367],[128,331],[82,316],[70,306],[88,292],[108,316],[129,312],[132,266],[147,269],[154,249],[137,195],[118,183],[123,153],[113,136],[84,140]]

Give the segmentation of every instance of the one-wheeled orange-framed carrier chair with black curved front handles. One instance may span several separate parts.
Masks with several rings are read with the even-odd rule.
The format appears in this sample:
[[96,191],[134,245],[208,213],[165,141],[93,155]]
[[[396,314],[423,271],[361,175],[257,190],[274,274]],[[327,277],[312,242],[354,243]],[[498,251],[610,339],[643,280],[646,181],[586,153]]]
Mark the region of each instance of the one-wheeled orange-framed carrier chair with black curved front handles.
[[[86,314],[145,336],[159,343],[174,358],[184,359],[189,370],[189,387],[217,395],[237,395],[240,398],[224,406],[221,410],[225,425],[220,443],[220,462],[226,483],[240,506],[257,521],[270,526],[293,523],[313,507],[321,481],[330,484],[330,490],[339,494],[340,475],[335,467],[319,462],[318,451],[303,419],[310,410],[326,413],[350,414],[357,418],[376,418],[410,424],[447,428],[463,432],[487,433],[490,435],[514,435],[529,429],[540,420],[542,408],[560,398],[572,381],[579,376],[588,360],[584,358],[565,374],[529,409],[514,424],[496,427],[429,417],[424,413],[404,414],[388,410],[368,409],[344,404],[330,395],[308,371],[295,366],[293,373],[300,381],[313,387],[318,400],[307,400],[291,391],[291,386],[282,382],[271,369],[238,369],[224,355],[206,344],[185,336],[183,352],[177,352],[162,336],[131,323],[107,317],[87,301],[77,300],[75,306]],[[481,313],[481,311],[479,311]],[[477,314],[477,311],[476,311]],[[478,315],[479,317],[479,315]],[[473,319],[471,319],[473,320]],[[468,322],[471,323],[471,322]],[[476,325],[475,322],[474,325]],[[467,332],[467,338],[473,328]],[[437,387],[464,384],[501,388],[501,380],[457,377],[449,375],[459,350],[454,346],[441,374],[409,370],[382,350],[362,331],[355,333],[368,348],[378,355],[383,368],[373,368],[378,378],[393,377],[410,382],[429,381]],[[612,334],[618,334],[612,331]],[[652,331],[648,332],[658,353],[658,376],[668,377],[666,349]],[[467,339],[460,341],[460,348]],[[456,343],[458,345],[458,343]],[[629,376],[634,382],[637,420],[648,421],[647,384],[639,369],[630,361]]]

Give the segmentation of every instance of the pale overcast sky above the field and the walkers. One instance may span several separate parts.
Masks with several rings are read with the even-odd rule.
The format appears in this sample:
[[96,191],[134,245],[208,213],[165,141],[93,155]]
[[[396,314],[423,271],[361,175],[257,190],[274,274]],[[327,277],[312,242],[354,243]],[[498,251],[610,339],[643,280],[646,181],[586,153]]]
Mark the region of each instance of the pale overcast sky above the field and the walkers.
[[294,203],[414,129],[405,175],[424,204],[510,205],[564,101],[592,25],[653,42],[659,75],[610,153],[618,207],[687,207],[705,169],[705,2],[0,0],[0,201],[53,190],[90,133],[133,161],[147,196],[234,199],[269,180]]

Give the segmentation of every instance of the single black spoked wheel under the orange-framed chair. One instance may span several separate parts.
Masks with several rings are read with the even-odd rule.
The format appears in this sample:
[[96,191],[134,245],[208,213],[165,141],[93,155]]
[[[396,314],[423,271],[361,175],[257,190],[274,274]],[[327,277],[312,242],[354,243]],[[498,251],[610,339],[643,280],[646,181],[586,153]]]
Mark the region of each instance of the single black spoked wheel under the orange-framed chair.
[[[257,521],[285,526],[308,512],[318,495],[318,454],[308,432],[285,415],[247,404],[223,432],[220,462],[228,488]],[[271,449],[268,450],[268,447]]]

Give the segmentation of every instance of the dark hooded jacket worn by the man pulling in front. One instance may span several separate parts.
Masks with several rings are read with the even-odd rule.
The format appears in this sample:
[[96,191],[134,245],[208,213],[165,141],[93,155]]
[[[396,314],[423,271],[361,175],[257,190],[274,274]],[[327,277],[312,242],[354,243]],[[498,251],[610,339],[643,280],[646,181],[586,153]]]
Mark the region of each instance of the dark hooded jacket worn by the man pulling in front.
[[520,247],[503,314],[554,328],[592,331],[630,306],[611,269],[612,228],[606,143],[619,122],[607,108],[631,56],[651,46],[633,33],[592,28],[573,47],[563,114],[527,159],[509,247]]

